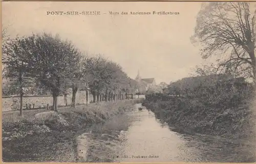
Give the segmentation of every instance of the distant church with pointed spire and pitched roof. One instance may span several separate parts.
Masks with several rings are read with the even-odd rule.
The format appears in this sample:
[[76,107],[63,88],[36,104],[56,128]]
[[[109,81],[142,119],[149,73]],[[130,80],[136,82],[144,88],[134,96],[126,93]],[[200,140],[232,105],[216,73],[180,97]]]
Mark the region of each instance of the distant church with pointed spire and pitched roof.
[[145,93],[149,89],[154,90],[157,88],[155,78],[142,79],[139,71],[135,80],[138,82],[139,85],[136,92]]

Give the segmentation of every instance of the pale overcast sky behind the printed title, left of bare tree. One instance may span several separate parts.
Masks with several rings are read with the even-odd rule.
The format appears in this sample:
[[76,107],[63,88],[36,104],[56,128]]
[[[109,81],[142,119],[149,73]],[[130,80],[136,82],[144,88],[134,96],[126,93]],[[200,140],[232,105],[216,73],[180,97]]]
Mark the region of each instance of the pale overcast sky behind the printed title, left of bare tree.
[[[169,83],[189,76],[203,62],[190,43],[199,2],[3,2],[8,33],[59,33],[84,52],[102,54],[135,78]],[[47,11],[100,11],[101,15],[47,15]],[[110,15],[119,12],[179,12],[179,15]],[[102,14],[106,13],[106,14]]]

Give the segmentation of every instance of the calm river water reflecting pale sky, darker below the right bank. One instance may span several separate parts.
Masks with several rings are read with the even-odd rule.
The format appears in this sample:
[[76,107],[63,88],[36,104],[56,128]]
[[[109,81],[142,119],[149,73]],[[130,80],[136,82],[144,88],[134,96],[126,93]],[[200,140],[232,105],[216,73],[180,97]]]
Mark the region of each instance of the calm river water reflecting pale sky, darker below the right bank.
[[[138,109],[138,106],[136,108]],[[251,143],[227,138],[187,135],[170,130],[143,109],[128,114],[130,127],[120,137],[119,162],[254,162]]]

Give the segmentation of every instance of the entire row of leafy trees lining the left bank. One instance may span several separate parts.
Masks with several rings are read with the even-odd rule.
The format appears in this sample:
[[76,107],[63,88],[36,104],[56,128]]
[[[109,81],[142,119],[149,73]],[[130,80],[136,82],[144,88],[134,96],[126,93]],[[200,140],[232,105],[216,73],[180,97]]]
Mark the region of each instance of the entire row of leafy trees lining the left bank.
[[129,78],[120,65],[100,55],[85,55],[59,35],[42,33],[3,38],[4,77],[18,89],[21,115],[24,88],[35,84],[51,91],[53,110],[57,110],[57,97],[67,87],[72,87],[72,106],[75,106],[76,93],[81,87],[90,88],[94,101],[102,93],[106,97],[113,92],[136,89],[136,81]]

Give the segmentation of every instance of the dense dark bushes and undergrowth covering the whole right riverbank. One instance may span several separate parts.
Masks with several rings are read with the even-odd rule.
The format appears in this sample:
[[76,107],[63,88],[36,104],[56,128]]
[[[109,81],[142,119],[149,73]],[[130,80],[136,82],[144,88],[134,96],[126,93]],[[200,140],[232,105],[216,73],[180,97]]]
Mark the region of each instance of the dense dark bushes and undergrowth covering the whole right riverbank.
[[[177,89],[182,97],[175,96]],[[143,105],[177,131],[231,138],[248,138],[253,134],[251,84],[223,80],[183,88],[171,84],[167,90],[146,95]]]

